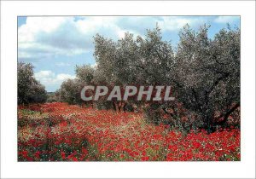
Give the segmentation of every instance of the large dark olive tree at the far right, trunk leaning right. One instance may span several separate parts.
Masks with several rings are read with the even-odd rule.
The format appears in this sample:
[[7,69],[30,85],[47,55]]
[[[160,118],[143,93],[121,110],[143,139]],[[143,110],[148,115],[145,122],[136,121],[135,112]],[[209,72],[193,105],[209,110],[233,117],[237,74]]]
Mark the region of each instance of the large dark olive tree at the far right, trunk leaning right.
[[[223,29],[211,39],[208,28],[201,26],[195,32],[184,26],[172,81],[177,100],[211,131],[240,106],[240,31]],[[221,114],[216,117],[216,112]],[[216,118],[221,117],[218,123]]]

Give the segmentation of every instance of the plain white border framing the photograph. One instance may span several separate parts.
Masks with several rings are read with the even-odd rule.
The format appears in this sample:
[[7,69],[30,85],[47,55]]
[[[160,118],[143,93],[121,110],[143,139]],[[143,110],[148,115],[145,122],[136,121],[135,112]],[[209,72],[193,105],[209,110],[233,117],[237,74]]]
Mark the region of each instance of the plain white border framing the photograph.
[[[254,1],[1,3],[1,177],[255,177]],[[96,14],[241,15],[241,162],[17,162],[17,16]]]

